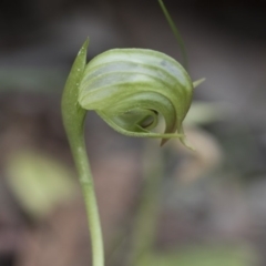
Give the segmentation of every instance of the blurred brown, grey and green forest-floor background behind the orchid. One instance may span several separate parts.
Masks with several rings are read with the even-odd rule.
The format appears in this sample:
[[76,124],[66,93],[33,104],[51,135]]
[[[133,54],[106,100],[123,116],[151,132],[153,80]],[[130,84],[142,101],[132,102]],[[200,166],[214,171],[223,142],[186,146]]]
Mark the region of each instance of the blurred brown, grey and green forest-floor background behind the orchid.
[[[266,3],[165,0],[196,89],[185,132],[121,136],[88,114],[108,266],[266,266]],[[157,1],[0,3],[0,266],[91,265],[60,99],[81,44],[181,53]]]

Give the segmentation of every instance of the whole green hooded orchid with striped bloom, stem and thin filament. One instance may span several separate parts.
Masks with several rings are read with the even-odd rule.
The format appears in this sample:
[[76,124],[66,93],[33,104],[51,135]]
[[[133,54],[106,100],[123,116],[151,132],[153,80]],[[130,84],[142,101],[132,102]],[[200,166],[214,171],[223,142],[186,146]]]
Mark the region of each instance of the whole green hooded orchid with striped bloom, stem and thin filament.
[[[158,1],[181,43],[162,0]],[[182,51],[185,53],[183,42]],[[113,49],[86,63],[89,40],[72,65],[62,96],[62,117],[83,191],[92,239],[93,266],[104,265],[102,231],[84,143],[84,120],[95,111],[112,129],[129,136],[158,137],[163,145],[178,137],[190,147],[183,121],[195,86],[186,70],[165,53],[147,49]],[[186,59],[186,57],[184,57]],[[160,117],[163,133],[154,132]]]

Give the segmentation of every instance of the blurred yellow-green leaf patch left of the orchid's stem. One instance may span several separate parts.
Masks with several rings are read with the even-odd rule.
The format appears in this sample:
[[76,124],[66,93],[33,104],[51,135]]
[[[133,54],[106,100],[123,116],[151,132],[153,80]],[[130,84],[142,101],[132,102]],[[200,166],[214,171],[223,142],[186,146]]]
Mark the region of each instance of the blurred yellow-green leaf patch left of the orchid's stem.
[[33,218],[44,217],[75,192],[70,171],[38,152],[17,152],[8,160],[6,171],[14,197]]

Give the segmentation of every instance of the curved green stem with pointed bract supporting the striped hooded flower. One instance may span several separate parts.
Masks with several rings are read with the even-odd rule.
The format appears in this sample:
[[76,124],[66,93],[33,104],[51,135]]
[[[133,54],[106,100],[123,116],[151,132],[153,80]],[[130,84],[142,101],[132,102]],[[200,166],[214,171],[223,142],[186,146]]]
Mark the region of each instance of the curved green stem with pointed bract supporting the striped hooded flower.
[[84,42],[79,54],[76,55],[66,80],[62,96],[62,116],[85,201],[92,242],[92,265],[103,266],[104,250],[102,229],[94,192],[94,184],[84,141],[84,120],[86,111],[78,103],[79,85],[85,68],[88,45],[89,40]]

